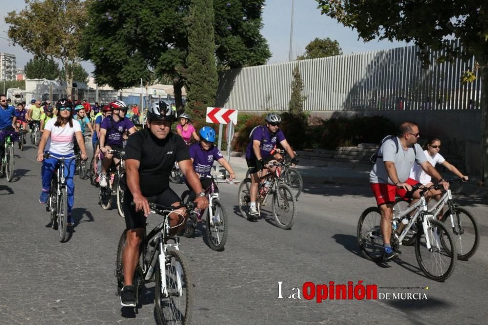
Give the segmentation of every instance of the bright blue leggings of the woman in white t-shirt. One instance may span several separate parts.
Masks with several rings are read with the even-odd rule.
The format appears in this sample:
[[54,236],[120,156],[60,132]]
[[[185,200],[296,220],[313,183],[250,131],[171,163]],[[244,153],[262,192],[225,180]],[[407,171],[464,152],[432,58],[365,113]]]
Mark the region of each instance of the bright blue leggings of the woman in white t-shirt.
[[[56,157],[73,157],[73,154],[69,155],[56,155]],[[64,161],[64,178],[66,179],[66,187],[68,189],[68,214],[71,215],[73,209],[73,203],[75,203],[75,183],[73,182],[73,176],[75,175],[76,159]],[[53,177],[54,169],[58,165],[58,159],[53,156],[44,159],[42,162],[42,190],[49,192],[51,189],[51,179]]]

